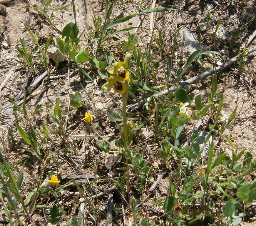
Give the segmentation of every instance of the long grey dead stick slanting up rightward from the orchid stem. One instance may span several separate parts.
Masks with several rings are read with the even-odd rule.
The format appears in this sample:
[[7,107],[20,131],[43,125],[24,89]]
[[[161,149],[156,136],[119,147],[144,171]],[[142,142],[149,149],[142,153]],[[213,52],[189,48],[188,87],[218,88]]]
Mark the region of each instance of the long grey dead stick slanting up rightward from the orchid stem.
[[[246,56],[249,55],[250,53],[254,52],[255,50],[256,50],[256,46],[249,49],[246,53]],[[194,76],[193,78],[190,78],[190,79],[188,79],[188,80],[186,80],[182,83],[179,83],[179,88],[182,88],[185,85],[191,85],[191,84],[197,83],[198,81],[202,80],[203,78],[206,78],[207,76],[213,75],[215,71],[217,72],[217,71],[223,70],[224,68],[228,67],[229,65],[235,63],[237,61],[236,58],[238,56],[231,58],[229,61],[227,61],[223,65],[216,67],[216,69],[211,69],[209,71],[205,71],[205,72],[201,73],[200,75]],[[172,86],[167,90],[164,90],[160,93],[156,93],[156,94],[148,97],[147,102],[151,101],[152,97],[159,97],[159,96],[162,96],[162,95],[167,95],[168,93],[173,93],[175,90],[177,90],[177,86]],[[138,102],[134,105],[127,106],[127,110],[135,111],[138,108],[140,108],[143,104],[144,104],[143,102]]]

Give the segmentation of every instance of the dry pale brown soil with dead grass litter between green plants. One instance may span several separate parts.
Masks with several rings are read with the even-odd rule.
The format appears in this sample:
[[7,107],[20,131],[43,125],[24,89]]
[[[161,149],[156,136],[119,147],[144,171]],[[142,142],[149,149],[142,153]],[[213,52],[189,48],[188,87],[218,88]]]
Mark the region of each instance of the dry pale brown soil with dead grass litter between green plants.
[[[25,150],[24,146],[20,142],[20,134],[17,131],[15,123],[18,123],[25,131],[29,131],[29,124],[22,115],[13,114],[13,105],[8,98],[12,98],[22,108],[23,98],[18,99],[17,96],[23,91],[27,90],[30,84],[33,83],[40,75],[45,73],[44,65],[37,57],[40,55],[35,42],[28,34],[25,25],[31,30],[33,34],[36,34],[36,38],[40,45],[43,47],[47,39],[53,35],[54,37],[61,37],[61,31],[69,22],[74,22],[74,14],[72,10],[72,2],[70,0],[56,0],[52,1],[49,6],[48,15],[52,10],[60,8],[64,5],[70,4],[67,8],[57,10],[53,13],[52,23],[54,23],[54,29],[52,30],[47,19],[38,12],[38,7],[42,7],[42,2],[39,0],[0,0],[0,137],[2,141],[2,150],[6,157],[8,157],[9,163],[15,163],[18,160],[26,159],[27,162],[24,167],[23,183],[21,188],[23,189],[22,196],[26,198],[28,193],[35,187],[35,181],[38,182],[38,175],[42,170],[42,166],[38,165],[38,160],[35,155]],[[125,4],[125,5],[124,5]],[[113,22],[118,18],[125,17],[143,10],[149,9],[152,6],[152,2],[148,0],[137,1],[123,1],[116,2],[114,4],[113,12],[109,22]],[[88,45],[93,37],[90,36],[90,31],[97,33],[94,27],[93,16],[100,18],[103,23],[105,20],[105,5],[103,0],[75,0],[75,10],[77,25],[80,33],[84,31],[81,38],[83,46]],[[187,60],[187,56],[179,50],[179,43],[182,42],[181,35],[177,35],[177,44],[174,46],[174,35],[177,28],[180,26],[183,29],[189,31],[198,40],[198,26],[199,23],[207,23],[207,13],[210,12],[209,27],[207,30],[201,29],[201,42],[204,51],[217,51],[221,53],[223,61],[226,62],[230,58],[239,55],[243,52],[243,45],[253,35],[256,29],[256,1],[254,0],[169,0],[156,2],[157,7],[169,7],[175,10],[155,13],[154,14],[154,34],[159,37],[161,32],[162,49],[159,51],[159,47],[153,40],[151,45],[151,58],[154,62],[161,64],[156,72],[157,78],[159,78],[158,85],[165,84],[165,75],[167,71],[167,55],[172,56],[172,53],[179,52],[173,62],[171,73],[172,76],[176,74],[177,69],[182,66],[182,63],[178,63],[178,60],[184,58]],[[220,20],[219,28],[221,32],[214,32],[216,25]],[[208,26],[207,25],[207,26]],[[114,31],[124,29],[127,27],[144,27],[150,28],[150,15],[141,14],[122,23],[114,28]],[[214,27],[215,26],[215,27]],[[89,30],[92,28],[92,30]],[[219,31],[220,31],[219,30]],[[112,31],[112,32],[114,32]],[[232,33],[239,31],[238,37],[232,39]],[[133,33],[132,30],[130,33]],[[141,47],[142,52],[150,46],[149,32],[145,32],[144,29],[139,28],[138,31],[138,43],[137,47]],[[218,35],[217,35],[218,33]],[[121,42],[114,43],[117,40],[128,35],[127,32],[120,33],[112,39],[106,40],[102,43],[103,50],[110,50],[114,53],[115,57],[119,60],[123,60]],[[212,36],[213,35],[213,36]],[[21,58],[18,57],[17,46],[21,47],[20,37],[25,39],[25,46],[28,52],[32,52],[33,63],[35,65],[35,73],[31,68],[24,64]],[[214,37],[214,40],[213,38]],[[158,39],[159,40],[159,39]],[[212,41],[213,40],[213,41]],[[110,45],[111,44],[111,45]],[[256,45],[256,40],[252,40],[248,43],[247,48],[251,49]],[[52,38],[50,47],[57,47],[55,38]],[[89,47],[90,55],[97,57],[97,46],[91,45]],[[222,121],[229,118],[234,108],[238,105],[236,113],[235,125],[225,130],[225,135],[233,142],[234,146],[238,146],[239,150],[246,148],[253,158],[256,155],[256,60],[254,59],[255,53],[244,57],[245,68],[240,70],[237,63],[225,68],[218,73],[218,90],[217,93],[225,96],[223,108],[221,114],[223,115]],[[192,64],[182,80],[187,80],[199,73],[202,70],[209,70],[214,68],[217,62],[221,62],[222,59],[218,55],[203,55],[201,62],[202,67],[199,64]],[[184,62],[184,61],[183,61]],[[120,122],[112,122],[107,118],[108,108],[115,112],[120,112],[122,109],[122,98],[113,90],[108,90],[105,94],[101,91],[101,86],[105,83],[95,68],[89,63],[81,64],[87,73],[92,76],[93,80],[89,80],[83,73],[77,68],[77,65],[72,61],[63,61],[58,65],[54,61],[49,60],[48,68],[50,71],[49,76],[40,81],[35,88],[27,94],[25,100],[25,106],[27,108],[27,114],[32,121],[33,126],[37,133],[42,130],[42,124],[48,129],[48,134],[52,137],[53,142],[47,143],[44,146],[40,141],[42,149],[48,155],[44,155],[44,174],[42,176],[42,182],[49,179],[48,173],[54,173],[63,178],[65,175],[77,175],[77,178],[81,178],[81,175],[98,175],[99,178],[93,179],[93,182],[88,186],[84,180],[85,197],[89,198],[93,202],[93,206],[97,210],[92,208],[87,202],[85,202],[85,221],[84,225],[105,225],[106,224],[106,206],[107,198],[109,194],[114,193],[114,205],[121,206],[124,204],[124,213],[115,212],[113,215],[114,225],[128,225],[132,224],[132,216],[127,208],[128,204],[120,189],[115,189],[105,193],[99,198],[92,199],[91,196],[99,194],[111,188],[113,185],[111,178],[116,178],[123,173],[122,169],[124,165],[121,163],[117,165],[111,165],[110,162],[113,159],[113,154],[104,153],[99,148],[99,143],[103,143],[105,140],[109,141],[111,151],[115,141],[120,138],[119,125]],[[173,75],[174,74],[174,75]],[[174,78],[170,78],[170,81]],[[208,85],[211,82],[211,77],[208,77],[197,84],[193,84],[189,88],[189,95],[196,96],[202,94],[202,98],[207,103],[207,97],[209,94]],[[156,86],[152,79],[152,86]],[[84,91],[84,89],[86,92]],[[85,100],[85,107],[73,109],[70,104],[70,94],[75,94],[79,91]],[[134,93],[135,95],[138,92]],[[148,94],[148,96],[153,93]],[[146,96],[146,97],[148,97]],[[138,95],[140,98],[141,96]],[[60,109],[62,110],[63,120],[66,125],[66,137],[62,139],[55,127],[57,124],[50,117],[49,111],[54,112],[54,106],[57,101],[60,101]],[[47,108],[46,102],[52,105],[51,108]],[[128,104],[136,103],[137,100],[129,99]],[[192,103],[193,104],[193,103]],[[38,112],[35,112],[37,105],[42,105]],[[85,111],[88,111],[94,115],[94,121],[97,124],[93,130],[88,128],[88,125],[82,121]],[[138,109],[142,112],[142,109]],[[151,117],[151,113],[148,114]],[[153,115],[154,116],[154,115]],[[136,116],[137,118],[139,116]],[[193,126],[197,121],[188,123],[185,126],[185,133],[189,136]],[[169,169],[157,158],[158,150],[162,146],[162,140],[153,144],[154,140],[154,126],[153,121],[146,123],[141,131],[136,133],[134,140],[140,149],[140,155],[144,156],[144,159],[150,163],[153,171],[149,175],[151,181],[156,180],[159,173],[167,171]],[[55,127],[54,127],[55,126]],[[202,131],[209,130],[209,120],[204,118],[203,124],[200,129]],[[10,132],[10,131],[13,132]],[[187,138],[183,139],[184,143]],[[67,148],[66,153],[63,155],[63,150]],[[218,136],[218,145],[216,150],[226,150],[229,155],[231,148],[226,144],[224,135]],[[216,151],[217,152],[217,151]],[[50,155],[54,156],[50,157]],[[215,153],[216,155],[216,153]],[[107,170],[106,170],[107,166]],[[13,169],[15,174],[20,173],[22,169],[22,163],[17,165],[17,168]],[[131,174],[135,172],[131,170]],[[256,174],[249,175],[248,181],[252,182],[256,178]],[[138,214],[142,218],[147,218],[149,222],[155,224],[167,224],[166,218],[161,217],[163,214],[162,207],[156,208],[156,205],[152,203],[151,199],[146,199],[147,190],[151,187],[152,183],[149,181],[145,185],[145,193],[138,192],[136,190],[138,176],[134,174],[130,178],[131,195],[135,196],[138,203],[141,203],[141,209]],[[68,179],[63,179],[61,185],[67,183]],[[183,182],[181,182],[182,184]],[[249,183],[249,182],[248,182]],[[150,198],[158,198],[164,201],[167,195],[167,188],[170,186],[170,179],[166,176],[158,184],[158,187]],[[200,185],[201,186],[201,185]],[[2,185],[0,185],[2,189]],[[126,189],[126,188],[125,188]],[[201,188],[200,188],[201,189]],[[115,195],[116,194],[116,195]],[[67,211],[67,218],[62,218],[61,225],[67,225],[67,221],[72,219],[72,216],[79,215],[78,205],[82,202],[79,201],[80,197],[77,193],[75,186],[69,187],[69,190],[61,191],[58,195],[64,203],[64,210]],[[54,198],[49,200],[45,197],[38,198],[38,204],[44,204],[51,206],[54,203]],[[6,200],[5,200],[6,201]],[[253,204],[255,205],[255,203]],[[154,212],[151,207],[156,208]],[[200,206],[200,204],[199,204]],[[253,207],[251,207],[253,209]],[[255,208],[255,206],[254,206]],[[3,210],[2,204],[0,204],[0,212]],[[255,225],[255,211],[251,211],[249,217],[243,218],[243,224],[241,225]],[[2,213],[2,212],[1,212]],[[45,215],[49,215],[49,208],[37,209],[30,222],[31,225],[45,225]],[[218,214],[216,214],[217,216]],[[199,221],[198,221],[199,222]],[[206,222],[206,221],[205,221]],[[208,221],[207,221],[208,222]],[[207,222],[205,225],[207,225]],[[8,223],[7,218],[0,216],[0,224],[6,225]],[[202,223],[202,222],[200,222]],[[27,224],[22,222],[22,224]],[[217,225],[218,223],[216,223]]]

